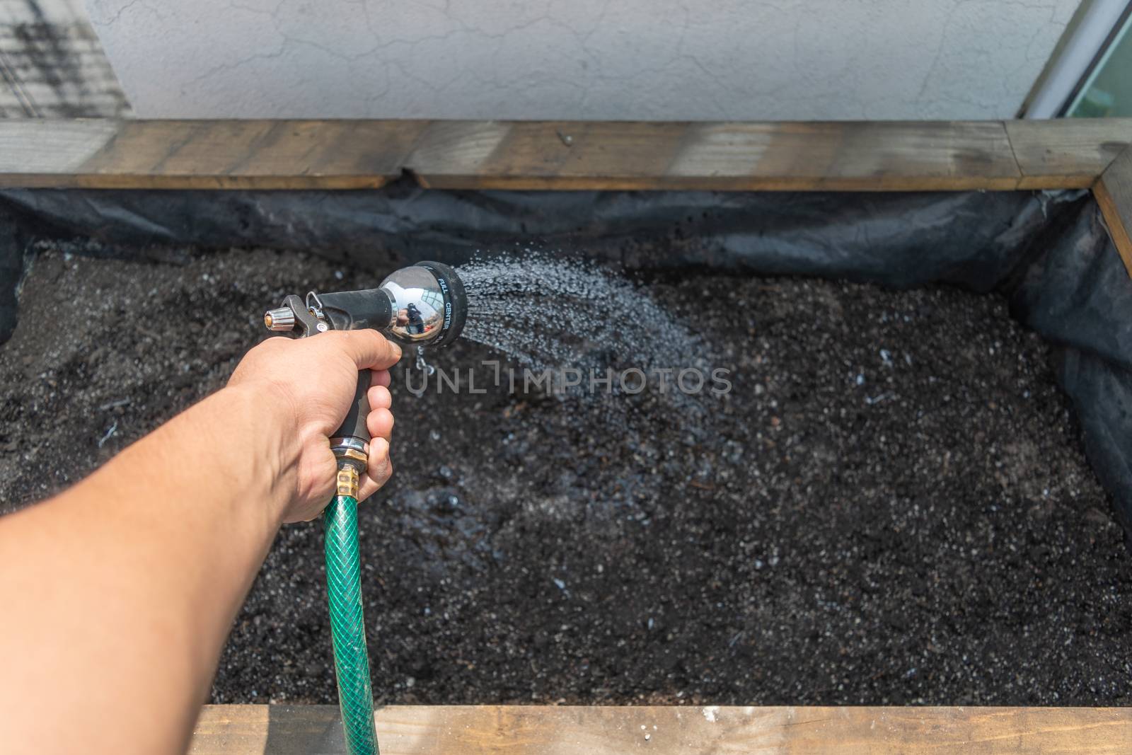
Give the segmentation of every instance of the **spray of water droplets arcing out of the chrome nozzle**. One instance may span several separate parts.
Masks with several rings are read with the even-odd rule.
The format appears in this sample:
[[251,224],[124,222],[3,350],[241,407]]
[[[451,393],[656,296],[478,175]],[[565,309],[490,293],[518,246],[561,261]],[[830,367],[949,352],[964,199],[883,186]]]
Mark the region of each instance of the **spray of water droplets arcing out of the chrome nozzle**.
[[[648,289],[595,265],[528,250],[462,265],[458,274],[468,292],[463,335],[525,368],[574,368],[583,375],[633,368],[710,372],[712,357],[703,338],[658,304]],[[582,443],[600,449],[606,439],[616,438],[638,460],[607,498],[584,501],[586,515],[620,516],[627,508],[627,518],[648,521],[646,509],[662,499],[663,490],[711,474],[706,458],[694,462],[695,472],[674,473],[666,466],[714,432],[711,400],[706,392],[686,394],[670,386],[666,393],[655,384],[643,393],[626,393],[614,381],[604,391],[575,387],[554,396],[569,405],[565,415],[571,423],[585,428]],[[671,435],[658,437],[658,411]]]

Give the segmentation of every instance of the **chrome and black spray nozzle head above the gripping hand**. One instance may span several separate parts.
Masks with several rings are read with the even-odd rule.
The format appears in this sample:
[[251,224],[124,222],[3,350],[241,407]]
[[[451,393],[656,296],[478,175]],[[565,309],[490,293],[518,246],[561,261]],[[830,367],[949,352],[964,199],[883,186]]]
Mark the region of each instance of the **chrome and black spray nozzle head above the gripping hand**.
[[456,340],[468,318],[464,285],[443,263],[402,267],[376,289],[311,292],[306,306],[300,302],[288,297],[264,316],[265,325],[272,331],[301,328],[303,335],[371,327],[405,345],[440,346]]

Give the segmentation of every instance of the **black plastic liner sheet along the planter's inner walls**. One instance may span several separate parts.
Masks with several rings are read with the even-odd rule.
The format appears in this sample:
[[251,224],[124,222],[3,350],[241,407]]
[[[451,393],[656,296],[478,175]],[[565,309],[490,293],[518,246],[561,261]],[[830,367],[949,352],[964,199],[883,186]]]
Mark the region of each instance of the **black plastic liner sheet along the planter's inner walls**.
[[[1001,292],[1057,377],[1132,532],[1132,281],[1086,191],[0,191],[0,342],[37,241],[147,258],[170,246],[458,264],[526,244],[628,269],[814,275]],[[658,255],[658,240],[668,254]]]

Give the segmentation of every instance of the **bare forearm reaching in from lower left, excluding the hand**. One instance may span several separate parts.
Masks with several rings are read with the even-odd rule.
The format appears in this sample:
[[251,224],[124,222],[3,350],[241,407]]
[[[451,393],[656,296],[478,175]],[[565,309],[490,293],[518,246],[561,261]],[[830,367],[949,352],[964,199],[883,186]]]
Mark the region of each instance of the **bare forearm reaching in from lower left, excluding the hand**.
[[[0,709],[28,726],[0,739],[36,752],[183,748],[294,491],[289,420],[265,403],[225,388],[0,522],[0,646],[27,651],[8,657]],[[52,707],[79,720],[48,723]]]

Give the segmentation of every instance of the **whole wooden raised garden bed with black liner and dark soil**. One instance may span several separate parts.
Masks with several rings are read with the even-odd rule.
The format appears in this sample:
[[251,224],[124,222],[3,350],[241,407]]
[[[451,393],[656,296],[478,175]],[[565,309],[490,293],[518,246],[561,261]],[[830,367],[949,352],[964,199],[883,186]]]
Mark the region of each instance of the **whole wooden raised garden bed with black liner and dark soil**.
[[[67,484],[222,385],[284,290],[534,240],[627,269],[734,389],[703,398],[706,422],[649,392],[616,412],[401,392],[398,473],[362,509],[379,703],[1127,703],[1126,125],[505,126],[71,125],[34,171],[11,146],[34,129],[9,135],[0,247],[34,261],[0,348],[0,500],[49,495],[43,471]],[[580,152],[550,155],[563,128]],[[387,160],[365,140],[314,148],[327,129],[385,134]],[[688,190],[624,191],[642,188]],[[818,192],[751,192],[787,188]],[[830,191],[878,188],[904,194]],[[959,191],[980,188],[1001,191]],[[462,343],[439,359],[489,386],[495,358]],[[333,702],[319,539],[281,534],[214,702]],[[201,736],[276,726],[224,710]],[[577,720],[625,726],[602,710]],[[274,744],[295,747],[324,715],[276,714],[298,728]],[[890,730],[1062,736],[1018,714]],[[774,715],[734,736],[786,726]],[[1057,731],[1118,749],[1086,732],[1126,730],[1120,714],[1065,715]]]

